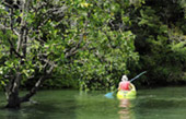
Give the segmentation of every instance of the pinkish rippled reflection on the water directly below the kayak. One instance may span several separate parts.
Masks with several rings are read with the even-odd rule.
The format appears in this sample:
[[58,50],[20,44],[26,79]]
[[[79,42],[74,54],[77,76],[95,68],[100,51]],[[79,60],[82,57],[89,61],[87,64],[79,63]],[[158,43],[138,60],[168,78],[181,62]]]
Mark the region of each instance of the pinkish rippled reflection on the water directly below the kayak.
[[120,99],[119,100],[119,119],[136,119],[135,111],[132,110],[133,105],[130,99]]

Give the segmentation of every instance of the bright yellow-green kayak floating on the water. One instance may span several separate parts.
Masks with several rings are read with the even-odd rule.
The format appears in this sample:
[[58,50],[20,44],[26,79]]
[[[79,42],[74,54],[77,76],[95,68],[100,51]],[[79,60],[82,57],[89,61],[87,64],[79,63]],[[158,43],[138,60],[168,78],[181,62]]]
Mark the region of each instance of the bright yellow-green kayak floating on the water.
[[118,91],[116,97],[118,99],[132,99],[136,98],[137,91],[133,84],[131,84],[132,88],[130,91]]

